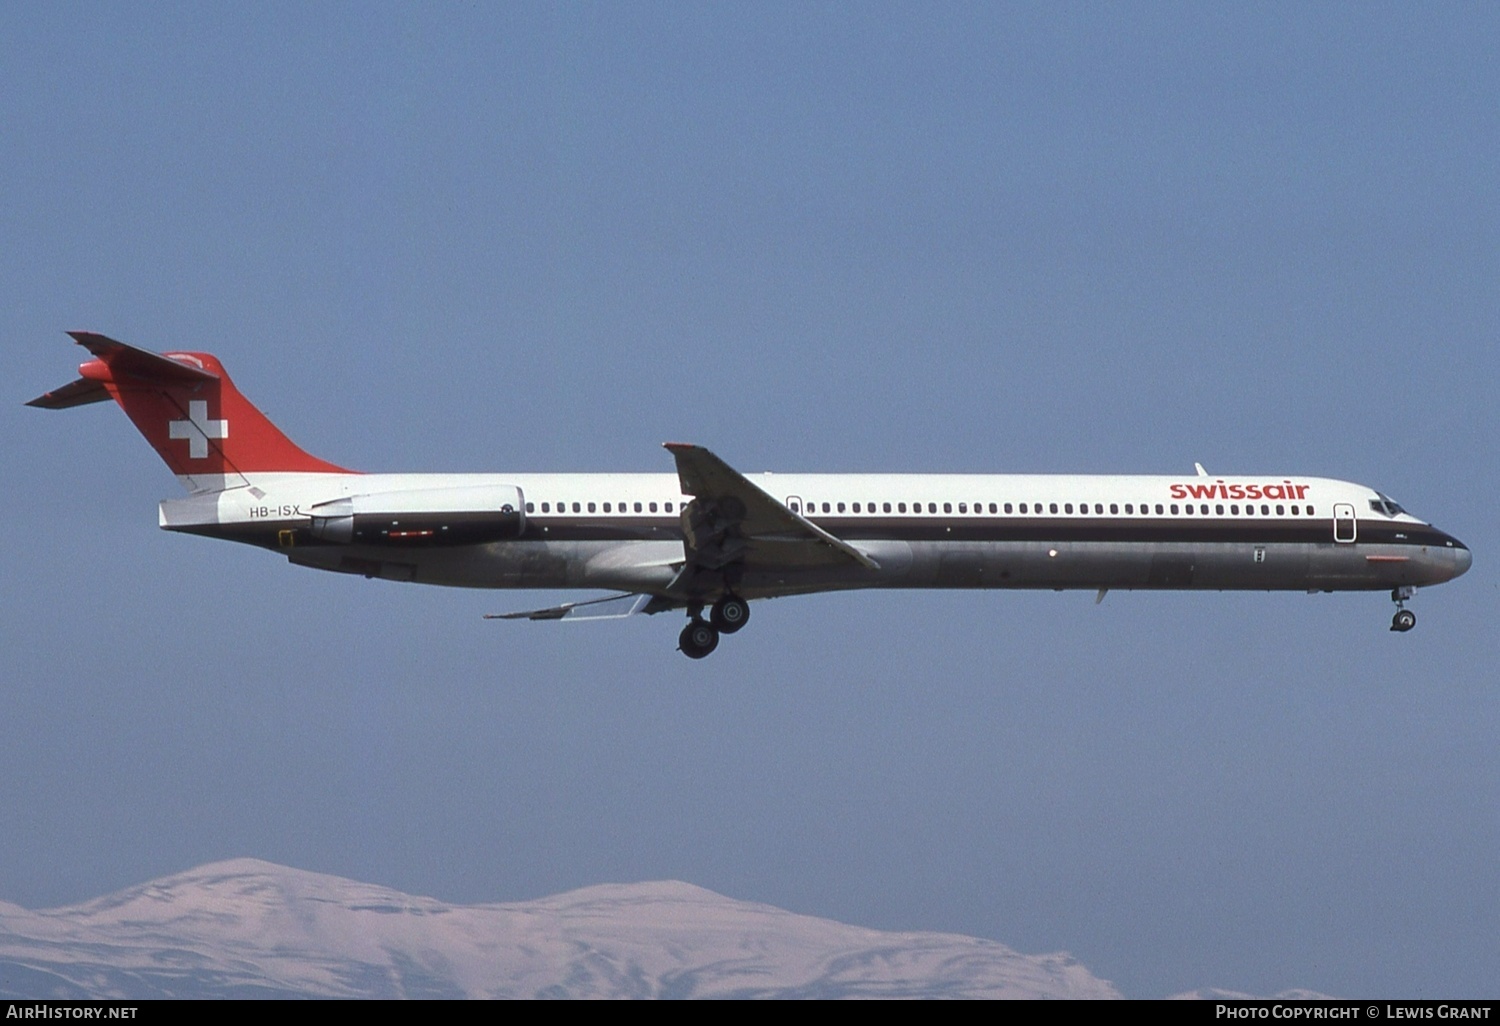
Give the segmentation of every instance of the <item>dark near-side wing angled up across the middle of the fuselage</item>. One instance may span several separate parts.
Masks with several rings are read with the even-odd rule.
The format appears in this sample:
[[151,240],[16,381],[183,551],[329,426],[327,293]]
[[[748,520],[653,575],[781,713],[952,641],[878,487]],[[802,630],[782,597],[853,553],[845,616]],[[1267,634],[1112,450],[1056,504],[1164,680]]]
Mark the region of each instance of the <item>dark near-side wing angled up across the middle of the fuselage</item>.
[[879,564],[848,542],[794,513],[702,446],[668,442],[682,494],[682,544],[688,567],[756,570]]

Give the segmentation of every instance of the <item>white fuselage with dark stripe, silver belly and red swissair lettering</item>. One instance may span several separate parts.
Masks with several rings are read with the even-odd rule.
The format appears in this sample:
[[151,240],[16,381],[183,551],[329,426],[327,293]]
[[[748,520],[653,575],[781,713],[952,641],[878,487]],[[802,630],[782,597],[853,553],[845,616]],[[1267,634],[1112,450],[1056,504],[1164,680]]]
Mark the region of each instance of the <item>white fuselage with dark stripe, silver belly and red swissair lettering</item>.
[[[1384,590],[1449,580],[1468,549],[1362,484],[1316,477],[748,474],[864,566],[750,567],[746,598],[842,588]],[[513,537],[318,543],[314,507],[362,495],[519,489]],[[292,562],[472,588],[669,598],[684,561],[676,474],[258,474],[162,502],[166,530],[280,548]],[[1392,512],[1394,510],[1394,512]],[[430,531],[428,532],[430,534]]]

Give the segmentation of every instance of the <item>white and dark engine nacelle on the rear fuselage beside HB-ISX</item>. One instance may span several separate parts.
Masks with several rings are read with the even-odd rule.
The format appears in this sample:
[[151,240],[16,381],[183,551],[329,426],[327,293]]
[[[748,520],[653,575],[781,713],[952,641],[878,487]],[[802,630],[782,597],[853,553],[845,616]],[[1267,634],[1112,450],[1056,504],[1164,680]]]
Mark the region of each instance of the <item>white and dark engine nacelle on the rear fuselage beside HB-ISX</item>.
[[312,537],[333,544],[446,546],[520,537],[526,504],[510,484],[423,488],[318,502]]

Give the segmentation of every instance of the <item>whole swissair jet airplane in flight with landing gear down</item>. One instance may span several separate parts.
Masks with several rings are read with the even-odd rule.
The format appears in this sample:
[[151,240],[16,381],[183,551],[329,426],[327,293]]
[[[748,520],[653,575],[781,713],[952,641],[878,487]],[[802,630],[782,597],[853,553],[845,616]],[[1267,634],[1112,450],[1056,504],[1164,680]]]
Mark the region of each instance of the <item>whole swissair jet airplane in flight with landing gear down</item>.
[[[675,474],[366,474],[298,448],[207,352],[69,332],[92,356],[33,399],[114,399],[188,489],[159,524],[291,562],[464,588],[616,594],[500,620],[680,609],[704,658],[750,602],[855,588],[1390,591],[1472,554],[1364,484],[1302,476],[741,474],[668,442]],[[705,618],[706,610],[706,618]]]

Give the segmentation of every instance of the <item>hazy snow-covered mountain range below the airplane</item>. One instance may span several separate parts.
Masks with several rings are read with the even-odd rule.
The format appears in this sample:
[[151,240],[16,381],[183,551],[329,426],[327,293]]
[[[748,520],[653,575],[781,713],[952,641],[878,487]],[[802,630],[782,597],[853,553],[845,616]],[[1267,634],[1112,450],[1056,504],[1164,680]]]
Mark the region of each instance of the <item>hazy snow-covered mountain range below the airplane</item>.
[[0,903],[0,998],[1119,998],[1066,954],[885,933],[690,884],[448,904],[250,858]]

